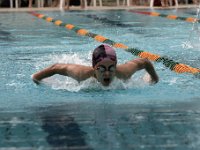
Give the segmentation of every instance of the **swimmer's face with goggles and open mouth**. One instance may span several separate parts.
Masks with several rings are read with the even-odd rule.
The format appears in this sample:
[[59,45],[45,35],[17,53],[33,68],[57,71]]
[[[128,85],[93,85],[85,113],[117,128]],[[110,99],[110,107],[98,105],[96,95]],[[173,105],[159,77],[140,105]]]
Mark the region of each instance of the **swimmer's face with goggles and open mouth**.
[[116,72],[116,62],[104,59],[94,67],[97,80],[104,86],[109,86]]

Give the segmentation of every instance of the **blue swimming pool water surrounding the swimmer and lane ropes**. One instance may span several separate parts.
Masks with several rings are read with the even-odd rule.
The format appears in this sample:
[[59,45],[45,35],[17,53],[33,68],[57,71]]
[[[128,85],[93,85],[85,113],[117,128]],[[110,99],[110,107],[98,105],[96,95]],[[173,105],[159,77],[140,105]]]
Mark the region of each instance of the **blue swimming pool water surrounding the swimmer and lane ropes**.
[[[150,11],[150,10],[144,10]],[[157,10],[194,17],[195,9]],[[200,68],[199,41],[186,44],[192,23],[125,10],[40,12],[129,47]],[[105,88],[53,76],[40,86],[31,75],[53,63],[90,65],[100,43],[28,13],[0,14],[0,147],[17,149],[197,149],[200,80],[154,63],[158,84],[144,71]],[[198,32],[194,32],[198,36]],[[118,63],[136,58],[116,49]]]

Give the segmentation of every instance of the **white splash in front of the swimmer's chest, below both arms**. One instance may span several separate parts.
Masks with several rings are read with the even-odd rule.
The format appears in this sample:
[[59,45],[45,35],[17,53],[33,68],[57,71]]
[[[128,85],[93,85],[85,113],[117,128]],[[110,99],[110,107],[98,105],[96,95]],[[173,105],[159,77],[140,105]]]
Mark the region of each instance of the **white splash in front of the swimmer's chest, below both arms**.
[[51,86],[52,89],[66,90],[69,92],[125,90],[143,88],[145,87],[145,85],[147,85],[147,83],[145,83],[140,77],[132,77],[127,81],[115,78],[108,87],[101,85],[101,83],[99,83],[95,78],[89,78],[85,81],[78,83],[72,78],[53,76],[51,78],[45,79],[44,82],[45,84]]

